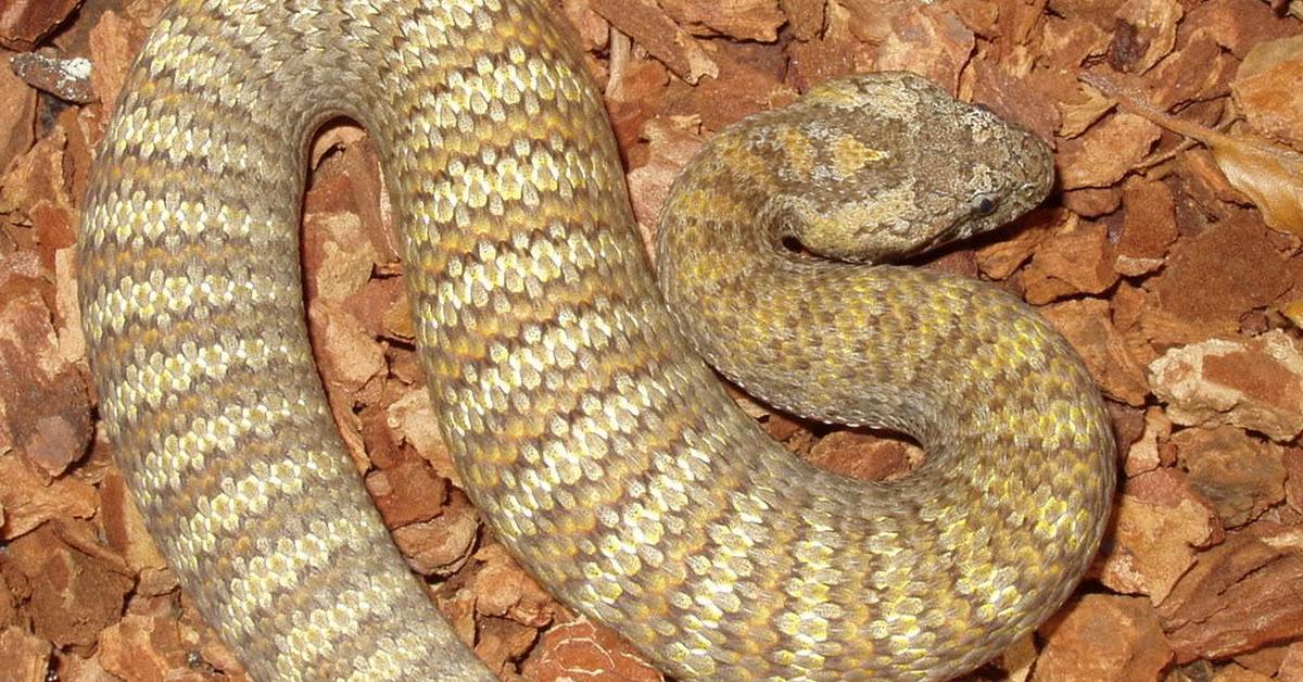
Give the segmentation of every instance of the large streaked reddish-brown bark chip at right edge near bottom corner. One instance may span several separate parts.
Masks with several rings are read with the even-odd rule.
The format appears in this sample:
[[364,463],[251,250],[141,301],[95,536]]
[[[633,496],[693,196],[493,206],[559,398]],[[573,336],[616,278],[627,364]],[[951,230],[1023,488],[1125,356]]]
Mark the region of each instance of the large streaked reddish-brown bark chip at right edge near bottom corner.
[[1261,524],[1199,556],[1158,609],[1181,662],[1303,635],[1303,529]]

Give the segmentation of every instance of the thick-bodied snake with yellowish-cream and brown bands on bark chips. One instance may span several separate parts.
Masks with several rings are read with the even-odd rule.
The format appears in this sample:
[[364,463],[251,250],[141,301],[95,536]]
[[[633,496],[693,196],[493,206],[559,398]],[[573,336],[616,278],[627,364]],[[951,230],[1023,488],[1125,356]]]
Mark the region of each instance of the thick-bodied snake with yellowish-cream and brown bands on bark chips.
[[[657,276],[555,12],[177,0],[152,29],[78,296],[103,428],[202,619],[254,679],[494,678],[396,550],[311,359],[308,150],[343,116],[379,149],[456,471],[552,595],[680,679],[941,679],[1031,632],[1100,545],[1102,398],[1014,295],[887,261],[1037,205],[1048,147],[915,76],[830,80],[687,164]],[[721,374],[926,456],[825,471]]]

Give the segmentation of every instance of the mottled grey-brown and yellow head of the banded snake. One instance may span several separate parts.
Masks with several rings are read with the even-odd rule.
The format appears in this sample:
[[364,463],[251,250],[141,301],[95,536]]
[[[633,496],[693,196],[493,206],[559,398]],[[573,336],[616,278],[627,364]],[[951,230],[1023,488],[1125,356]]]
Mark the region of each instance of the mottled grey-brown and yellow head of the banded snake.
[[739,133],[780,163],[766,213],[782,236],[846,261],[899,259],[994,230],[1054,180],[1036,136],[911,73],[823,82]]

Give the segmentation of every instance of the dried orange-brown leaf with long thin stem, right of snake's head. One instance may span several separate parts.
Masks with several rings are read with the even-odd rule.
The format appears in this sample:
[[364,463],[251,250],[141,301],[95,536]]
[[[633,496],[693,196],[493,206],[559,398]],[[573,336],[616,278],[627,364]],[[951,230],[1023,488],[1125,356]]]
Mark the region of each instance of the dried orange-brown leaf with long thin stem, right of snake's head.
[[1244,193],[1268,227],[1303,236],[1303,154],[1264,140],[1226,134],[1183,121],[1149,106],[1141,95],[1100,74],[1083,74],[1089,85],[1118,103],[1177,134],[1201,142],[1230,184]]

